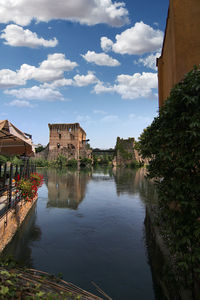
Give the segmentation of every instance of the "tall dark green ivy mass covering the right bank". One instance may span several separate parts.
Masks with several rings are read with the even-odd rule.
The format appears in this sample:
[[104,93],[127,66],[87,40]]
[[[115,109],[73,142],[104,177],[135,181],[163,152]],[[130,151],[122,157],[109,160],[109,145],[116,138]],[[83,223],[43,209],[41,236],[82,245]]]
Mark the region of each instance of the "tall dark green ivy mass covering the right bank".
[[[193,283],[200,266],[200,71],[171,91],[159,116],[139,138],[149,177],[157,179],[163,236],[176,258],[177,276]],[[168,238],[167,238],[168,237]],[[199,275],[198,275],[199,277]]]

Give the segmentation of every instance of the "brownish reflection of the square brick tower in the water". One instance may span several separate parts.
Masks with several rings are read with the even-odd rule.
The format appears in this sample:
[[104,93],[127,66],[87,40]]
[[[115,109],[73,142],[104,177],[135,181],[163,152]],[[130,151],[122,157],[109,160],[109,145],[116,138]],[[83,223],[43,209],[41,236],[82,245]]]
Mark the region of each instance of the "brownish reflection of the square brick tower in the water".
[[47,207],[77,209],[85,197],[91,172],[47,170]]

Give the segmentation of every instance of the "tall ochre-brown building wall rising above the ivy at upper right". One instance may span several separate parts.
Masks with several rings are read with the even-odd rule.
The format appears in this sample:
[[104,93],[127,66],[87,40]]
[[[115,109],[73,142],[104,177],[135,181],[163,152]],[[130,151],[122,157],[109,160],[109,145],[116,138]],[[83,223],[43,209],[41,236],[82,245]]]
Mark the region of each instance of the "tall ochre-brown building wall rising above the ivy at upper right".
[[172,87],[200,64],[200,1],[170,0],[161,57],[157,60],[159,106]]

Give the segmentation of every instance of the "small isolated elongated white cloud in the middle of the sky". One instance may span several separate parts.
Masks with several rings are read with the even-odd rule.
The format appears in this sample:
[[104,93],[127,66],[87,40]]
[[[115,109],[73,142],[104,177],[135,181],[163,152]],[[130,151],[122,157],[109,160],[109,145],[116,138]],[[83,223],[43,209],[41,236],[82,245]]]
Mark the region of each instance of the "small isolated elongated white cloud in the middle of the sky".
[[82,54],[82,57],[87,62],[95,63],[98,66],[116,67],[120,65],[118,60],[110,57],[108,54],[105,53],[96,53],[94,51],[88,51],[85,55]]

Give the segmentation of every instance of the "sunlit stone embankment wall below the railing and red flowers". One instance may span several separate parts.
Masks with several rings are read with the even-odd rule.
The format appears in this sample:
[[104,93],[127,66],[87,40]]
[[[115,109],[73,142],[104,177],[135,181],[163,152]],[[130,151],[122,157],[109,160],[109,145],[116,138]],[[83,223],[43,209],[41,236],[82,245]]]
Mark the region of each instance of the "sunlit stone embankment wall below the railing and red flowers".
[[0,253],[12,240],[36,201],[37,196],[31,202],[22,200],[0,219]]

